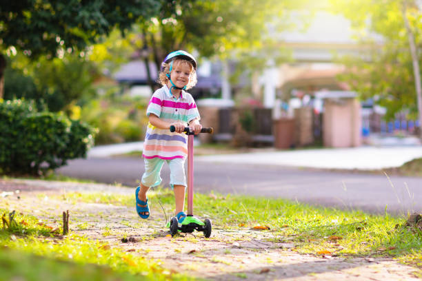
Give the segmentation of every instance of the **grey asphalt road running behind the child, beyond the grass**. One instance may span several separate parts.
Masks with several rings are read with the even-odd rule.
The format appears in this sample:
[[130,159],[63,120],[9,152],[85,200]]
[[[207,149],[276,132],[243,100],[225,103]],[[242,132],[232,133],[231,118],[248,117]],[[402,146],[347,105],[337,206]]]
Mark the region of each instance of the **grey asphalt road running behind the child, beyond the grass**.
[[[141,158],[70,160],[57,173],[101,183],[137,187],[143,173]],[[164,165],[163,184],[169,170]],[[343,209],[392,214],[422,211],[422,178],[323,171],[294,167],[208,163],[194,160],[194,190],[289,198]]]

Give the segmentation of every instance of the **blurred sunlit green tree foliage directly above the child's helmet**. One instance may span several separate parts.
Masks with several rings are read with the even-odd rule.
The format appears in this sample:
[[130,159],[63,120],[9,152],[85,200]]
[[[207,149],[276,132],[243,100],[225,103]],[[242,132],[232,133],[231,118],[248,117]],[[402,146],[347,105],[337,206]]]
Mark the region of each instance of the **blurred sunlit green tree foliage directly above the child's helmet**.
[[[285,29],[286,10],[303,2],[161,0],[157,17],[139,24],[140,45],[148,48],[157,69],[172,50],[195,50],[201,56],[218,55],[222,59],[235,54],[258,54],[260,50],[268,50],[268,43],[274,41],[268,37],[268,26],[272,25],[274,30]],[[279,54],[276,51],[267,56],[277,59]],[[265,64],[266,59],[260,61]]]

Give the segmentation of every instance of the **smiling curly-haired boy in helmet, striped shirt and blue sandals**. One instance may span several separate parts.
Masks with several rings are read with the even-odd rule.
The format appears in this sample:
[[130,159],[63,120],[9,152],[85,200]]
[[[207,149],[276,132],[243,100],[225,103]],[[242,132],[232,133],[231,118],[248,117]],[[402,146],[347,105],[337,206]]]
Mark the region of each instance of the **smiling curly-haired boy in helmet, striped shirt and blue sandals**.
[[[185,204],[185,158],[188,155],[187,136],[182,134],[190,127],[195,134],[201,132],[202,125],[197,105],[192,96],[184,90],[197,83],[197,61],[185,51],[168,54],[161,64],[159,82],[163,87],[152,94],[148,105],[148,129],[143,145],[145,172],[141,185],[137,187],[137,213],[141,218],[150,216],[147,191],[161,183],[161,168],[164,162],[170,167],[170,185],[174,190],[176,218],[183,222]],[[170,126],[176,128],[170,132]]]

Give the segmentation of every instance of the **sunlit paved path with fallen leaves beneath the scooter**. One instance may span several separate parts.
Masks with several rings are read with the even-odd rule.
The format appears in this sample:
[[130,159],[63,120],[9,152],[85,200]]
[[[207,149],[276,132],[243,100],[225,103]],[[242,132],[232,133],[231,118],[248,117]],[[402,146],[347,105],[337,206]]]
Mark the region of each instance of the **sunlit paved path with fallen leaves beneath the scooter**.
[[[19,198],[14,194],[20,191]],[[322,256],[300,254],[289,237],[272,231],[225,229],[214,224],[205,239],[183,234],[168,237],[158,205],[152,217],[141,220],[133,206],[70,200],[72,191],[128,194],[128,189],[99,184],[60,183],[41,180],[0,180],[0,190],[12,192],[0,200],[0,208],[31,214],[51,227],[59,227],[62,210],[70,210],[70,231],[98,240],[112,249],[130,252],[159,264],[171,273],[183,271],[207,280],[419,280],[420,269],[376,256]],[[133,195],[132,191],[129,192]],[[170,208],[169,206],[167,206]],[[155,209],[154,209],[155,208]],[[170,209],[168,209],[170,212]],[[275,232],[274,232],[275,231]],[[122,243],[121,238],[132,238]]]

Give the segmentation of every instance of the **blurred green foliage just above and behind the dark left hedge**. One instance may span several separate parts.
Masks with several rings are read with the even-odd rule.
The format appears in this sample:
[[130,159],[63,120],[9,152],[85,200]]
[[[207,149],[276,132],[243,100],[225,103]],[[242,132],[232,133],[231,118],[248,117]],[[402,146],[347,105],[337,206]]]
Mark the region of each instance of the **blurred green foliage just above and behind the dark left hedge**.
[[34,61],[18,54],[9,65],[4,99],[33,100],[37,107],[46,106],[51,112],[67,112],[78,101],[92,98],[92,82],[99,75],[92,61],[73,53],[62,59],[41,56]]

